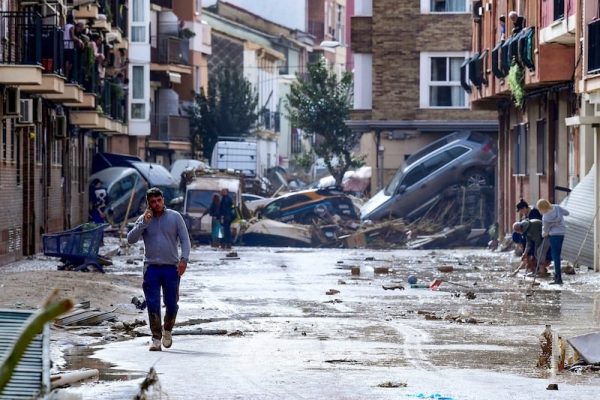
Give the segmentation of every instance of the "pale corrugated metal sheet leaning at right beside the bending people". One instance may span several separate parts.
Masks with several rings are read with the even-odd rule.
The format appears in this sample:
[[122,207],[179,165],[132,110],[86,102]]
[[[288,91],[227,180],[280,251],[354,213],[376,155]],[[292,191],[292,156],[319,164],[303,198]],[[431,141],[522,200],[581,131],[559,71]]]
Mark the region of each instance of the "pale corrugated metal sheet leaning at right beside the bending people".
[[[561,205],[569,210],[565,218],[567,233],[563,242],[562,257],[580,265],[594,265],[594,227],[593,219],[596,212],[596,166],[573,188],[573,191],[563,200]],[[587,235],[587,237],[586,237]],[[582,247],[583,245],[583,247]],[[581,249],[581,255],[577,254]]]

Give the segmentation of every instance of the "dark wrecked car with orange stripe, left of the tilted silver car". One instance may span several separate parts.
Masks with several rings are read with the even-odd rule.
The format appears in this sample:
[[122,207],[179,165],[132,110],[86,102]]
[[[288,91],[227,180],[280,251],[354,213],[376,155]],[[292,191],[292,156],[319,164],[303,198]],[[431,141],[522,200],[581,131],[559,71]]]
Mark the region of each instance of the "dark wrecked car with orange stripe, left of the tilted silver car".
[[258,211],[260,217],[297,224],[312,224],[338,215],[357,220],[352,199],[330,189],[311,189],[280,196]]

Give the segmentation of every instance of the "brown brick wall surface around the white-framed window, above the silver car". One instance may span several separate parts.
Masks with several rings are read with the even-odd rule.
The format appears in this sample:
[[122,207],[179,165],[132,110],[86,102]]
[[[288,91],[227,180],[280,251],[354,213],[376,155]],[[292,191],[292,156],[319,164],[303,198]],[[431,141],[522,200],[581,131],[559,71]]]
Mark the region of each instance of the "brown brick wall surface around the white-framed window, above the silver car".
[[489,111],[420,109],[420,53],[469,51],[471,14],[421,14],[419,0],[373,2],[373,118],[496,119]]

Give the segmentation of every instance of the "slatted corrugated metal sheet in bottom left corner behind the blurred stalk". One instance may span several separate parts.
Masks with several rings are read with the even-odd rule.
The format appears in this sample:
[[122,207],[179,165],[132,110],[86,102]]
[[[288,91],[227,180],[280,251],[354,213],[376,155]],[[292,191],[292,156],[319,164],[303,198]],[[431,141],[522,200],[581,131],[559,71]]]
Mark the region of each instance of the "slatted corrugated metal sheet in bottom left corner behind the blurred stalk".
[[[0,310],[0,359],[16,341],[32,311]],[[37,335],[2,392],[0,400],[40,398],[50,388],[49,328]]]

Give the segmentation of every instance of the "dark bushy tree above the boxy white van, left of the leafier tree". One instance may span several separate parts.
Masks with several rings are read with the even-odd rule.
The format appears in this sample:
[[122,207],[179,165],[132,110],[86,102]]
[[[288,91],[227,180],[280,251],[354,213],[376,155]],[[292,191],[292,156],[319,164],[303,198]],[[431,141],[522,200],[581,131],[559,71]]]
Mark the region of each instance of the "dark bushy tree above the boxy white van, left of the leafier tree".
[[190,118],[192,151],[210,158],[219,136],[244,136],[258,120],[258,94],[239,68],[225,66],[211,77],[208,90],[194,96],[186,109]]

